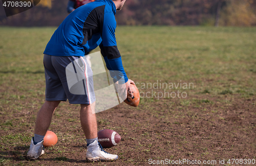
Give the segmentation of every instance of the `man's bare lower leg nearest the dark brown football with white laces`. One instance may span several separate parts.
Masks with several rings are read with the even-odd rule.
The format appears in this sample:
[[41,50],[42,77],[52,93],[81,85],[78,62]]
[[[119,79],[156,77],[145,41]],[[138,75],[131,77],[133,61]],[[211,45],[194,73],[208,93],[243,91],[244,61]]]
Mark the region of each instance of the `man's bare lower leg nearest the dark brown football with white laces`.
[[82,130],[87,139],[97,137],[97,121],[94,113],[95,103],[90,105],[81,104],[80,121]]

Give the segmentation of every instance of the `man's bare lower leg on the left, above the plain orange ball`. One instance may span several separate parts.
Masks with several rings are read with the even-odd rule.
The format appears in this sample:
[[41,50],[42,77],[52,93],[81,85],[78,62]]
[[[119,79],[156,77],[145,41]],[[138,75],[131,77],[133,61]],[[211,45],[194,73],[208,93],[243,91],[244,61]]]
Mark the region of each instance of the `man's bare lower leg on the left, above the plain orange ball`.
[[45,135],[52,121],[52,115],[60,101],[46,101],[39,110],[35,122],[35,134]]

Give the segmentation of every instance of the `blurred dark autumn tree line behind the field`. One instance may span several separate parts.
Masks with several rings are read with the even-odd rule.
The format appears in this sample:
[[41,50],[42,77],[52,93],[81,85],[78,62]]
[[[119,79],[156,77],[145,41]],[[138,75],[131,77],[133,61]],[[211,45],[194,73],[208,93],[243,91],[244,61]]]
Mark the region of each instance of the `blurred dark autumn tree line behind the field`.
[[[0,25],[58,26],[68,0],[41,0],[38,6],[6,17]],[[118,25],[256,26],[256,0],[129,0],[116,14]]]

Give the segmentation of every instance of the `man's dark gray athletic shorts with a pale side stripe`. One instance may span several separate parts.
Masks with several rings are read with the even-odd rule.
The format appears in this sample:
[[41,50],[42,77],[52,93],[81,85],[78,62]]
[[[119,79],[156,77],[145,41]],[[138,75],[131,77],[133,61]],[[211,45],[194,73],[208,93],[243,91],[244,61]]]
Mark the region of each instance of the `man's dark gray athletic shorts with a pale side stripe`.
[[44,55],[46,101],[95,102],[93,72],[85,57]]

